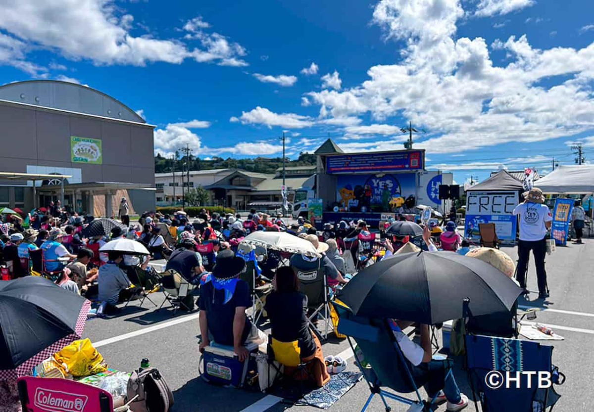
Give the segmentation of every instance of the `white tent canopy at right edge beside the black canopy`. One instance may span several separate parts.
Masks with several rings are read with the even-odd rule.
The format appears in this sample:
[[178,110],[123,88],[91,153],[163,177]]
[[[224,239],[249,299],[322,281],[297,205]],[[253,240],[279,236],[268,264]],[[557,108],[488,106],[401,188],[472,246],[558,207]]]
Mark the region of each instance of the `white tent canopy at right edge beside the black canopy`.
[[594,164],[559,166],[538,180],[535,186],[549,194],[586,194],[594,192]]

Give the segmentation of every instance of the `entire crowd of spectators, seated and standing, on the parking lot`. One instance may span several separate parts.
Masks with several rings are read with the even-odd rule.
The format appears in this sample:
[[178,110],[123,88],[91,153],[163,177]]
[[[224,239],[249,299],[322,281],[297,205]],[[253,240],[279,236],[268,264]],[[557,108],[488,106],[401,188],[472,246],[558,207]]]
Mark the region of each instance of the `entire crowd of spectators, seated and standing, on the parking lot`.
[[[537,197],[537,194],[528,197],[514,211],[514,214],[526,216],[526,208],[531,211],[536,208],[538,223],[542,223],[536,225],[538,227],[528,227],[520,220],[520,265],[530,250],[535,256],[542,252],[541,243],[550,213]],[[254,284],[269,283],[272,291],[260,309],[267,312],[271,337],[280,342],[298,341],[303,359],[319,361],[314,364],[318,366],[315,380],[320,386],[328,381],[328,369],[331,368],[324,365],[320,340],[314,332],[320,316],[311,301],[318,301],[320,297],[308,296],[308,280],[323,277],[331,296],[349,282],[353,272],[361,269],[362,261],[389,259],[400,249],[413,247],[410,236],[381,233],[376,239],[362,220],[326,224],[319,233],[304,218],[286,224],[281,215],[273,218],[256,210],[251,210],[245,219],[240,214],[209,214],[206,210],[194,218],[188,217],[184,211],[171,215],[144,213],[138,223],[130,223],[126,204],[122,199],[121,226],[113,227],[109,234],[90,239],[83,235],[91,223],[89,219],[76,214],[50,219],[50,208],[34,211],[29,216],[27,229],[18,224],[21,223],[18,220],[4,223],[0,246],[9,277],[35,274],[33,255],[40,250],[42,275],[52,278],[64,289],[96,300],[101,303],[100,313],[109,315],[119,310],[118,303],[140,296],[144,286],[141,277],[145,272],[146,276],[150,275],[151,259],[166,259],[166,271],[178,273],[196,287],[197,293],[191,299],[197,299],[200,308],[201,350],[214,341],[233,347],[239,360],[249,355],[248,343],[267,344],[267,335],[248,316],[248,309],[254,308]],[[58,207],[53,208],[53,213]],[[281,252],[258,250],[242,242],[245,236],[256,231],[283,231],[302,237],[311,243],[319,256],[293,253],[287,258]],[[109,240],[119,238],[142,243],[150,255],[99,252]],[[430,252],[443,249],[464,255],[470,250],[469,242],[457,232],[454,221],[445,223],[443,229],[433,222],[426,224],[422,238],[421,246]],[[289,265],[286,265],[287,261]],[[245,278],[246,271],[253,275],[254,284]],[[541,267],[538,259],[537,271],[541,289],[544,265]],[[520,284],[522,279],[519,273]],[[407,322],[394,322],[402,329],[408,326]],[[431,373],[435,361],[431,358],[428,326],[417,325],[417,329],[420,345],[405,334],[399,334],[399,346],[415,373]],[[442,375],[435,374],[431,381],[431,391],[437,393],[437,403],[447,403],[448,411],[466,407],[467,397],[460,393],[453,375]]]

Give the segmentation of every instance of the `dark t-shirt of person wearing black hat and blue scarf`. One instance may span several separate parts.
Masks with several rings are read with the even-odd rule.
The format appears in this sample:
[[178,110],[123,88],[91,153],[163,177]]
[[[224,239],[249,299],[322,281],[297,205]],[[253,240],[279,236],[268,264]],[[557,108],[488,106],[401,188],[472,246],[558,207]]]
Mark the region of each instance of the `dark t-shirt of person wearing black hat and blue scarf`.
[[[233,346],[235,308],[238,306],[244,306],[245,308],[252,306],[248,284],[243,280],[239,280],[235,286],[233,297],[229,302],[223,302],[225,302],[225,290],[214,289],[212,282],[203,284],[200,287],[200,310],[206,310],[208,331],[213,336],[213,340],[220,345]],[[242,343],[248,338],[251,328],[252,323],[245,316],[245,328],[241,337]]]

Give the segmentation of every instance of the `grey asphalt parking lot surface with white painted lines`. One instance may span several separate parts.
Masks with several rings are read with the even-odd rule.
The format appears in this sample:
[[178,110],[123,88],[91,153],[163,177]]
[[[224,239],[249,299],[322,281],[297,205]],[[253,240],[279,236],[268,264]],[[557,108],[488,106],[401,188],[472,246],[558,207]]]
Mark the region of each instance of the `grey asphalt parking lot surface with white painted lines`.
[[[514,260],[516,249],[503,248]],[[584,245],[569,244],[565,248],[546,257],[548,284],[551,297],[536,299],[531,293],[529,299],[520,298],[521,307],[540,309],[537,322],[549,325],[565,337],[564,341],[554,341],[553,363],[567,375],[567,382],[558,386],[561,395],[555,410],[560,412],[579,412],[594,410],[592,389],[594,389],[594,239],[584,240]],[[530,264],[528,288],[536,290],[534,265]],[[160,305],[162,293],[151,294],[154,303]],[[84,336],[91,338],[100,353],[111,367],[131,371],[140,366],[140,360],[149,358],[151,366],[159,368],[175,395],[172,412],[280,412],[299,410],[313,412],[312,407],[290,406],[279,398],[258,392],[220,388],[211,386],[199,378],[198,313],[178,312],[156,308],[150,302],[132,302],[123,308],[118,316],[109,319],[89,319]],[[168,305],[165,305],[165,307]],[[266,326],[263,327],[266,329]],[[441,335],[438,336],[441,343]],[[345,340],[331,339],[323,346],[324,355],[342,354],[351,356]],[[356,370],[349,359],[348,370]],[[389,359],[386,362],[390,362]],[[462,360],[456,359],[460,366]],[[456,378],[463,392],[470,396],[466,384],[466,373],[456,370]],[[422,392],[424,393],[424,392]],[[365,382],[359,382],[344,395],[329,411],[359,412],[369,396]],[[406,411],[406,405],[388,401],[391,410]],[[383,412],[384,406],[378,397],[372,400],[369,412]],[[445,411],[445,406],[438,410]],[[466,409],[474,411],[471,404]],[[509,411],[516,411],[510,405]],[[318,410],[319,411],[319,410]]]

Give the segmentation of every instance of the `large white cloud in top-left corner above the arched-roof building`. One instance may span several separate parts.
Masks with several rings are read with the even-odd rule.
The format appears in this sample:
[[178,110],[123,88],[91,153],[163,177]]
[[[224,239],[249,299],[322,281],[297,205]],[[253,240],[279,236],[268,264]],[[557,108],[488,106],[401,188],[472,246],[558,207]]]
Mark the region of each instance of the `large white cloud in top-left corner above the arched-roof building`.
[[[26,18],[23,18],[26,16]],[[183,39],[157,39],[131,34],[134,16],[114,0],[19,0],[5,2],[0,13],[0,64],[9,64],[33,76],[46,68],[27,62],[33,49],[46,49],[65,58],[90,60],[97,65],[144,66],[151,62],[181,64],[187,58],[219,65],[245,66],[246,52],[218,33],[200,17],[189,20],[185,40],[198,39],[189,49]],[[61,69],[55,64],[51,69]]]

